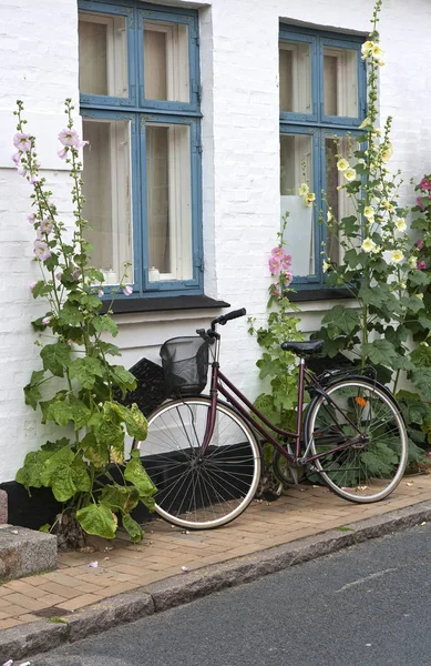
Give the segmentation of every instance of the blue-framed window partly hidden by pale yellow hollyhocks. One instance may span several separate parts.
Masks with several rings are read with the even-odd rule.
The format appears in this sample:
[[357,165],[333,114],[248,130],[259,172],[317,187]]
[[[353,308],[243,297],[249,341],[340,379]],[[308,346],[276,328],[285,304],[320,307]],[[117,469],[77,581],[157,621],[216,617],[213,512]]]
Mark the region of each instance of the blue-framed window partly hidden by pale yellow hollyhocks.
[[[337,170],[337,153],[356,150],[366,115],[366,64],[360,37],[302,31],[281,26],[279,42],[280,212],[288,211],[286,243],[293,254],[294,286],[325,286],[321,249],[337,265],[339,239],[318,224],[327,192],[335,214],[351,214]],[[298,188],[308,180],[316,208],[306,206]]]

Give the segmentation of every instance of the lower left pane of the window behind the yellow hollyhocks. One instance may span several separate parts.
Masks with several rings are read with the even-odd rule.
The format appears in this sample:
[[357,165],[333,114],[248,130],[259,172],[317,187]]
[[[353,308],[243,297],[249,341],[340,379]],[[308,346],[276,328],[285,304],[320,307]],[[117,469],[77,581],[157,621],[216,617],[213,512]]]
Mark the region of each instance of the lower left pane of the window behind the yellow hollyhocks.
[[306,205],[298,189],[306,179],[312,183],[312,143],[305,134],[280,137],[281,216],[288,211],[286,246],[291,254],[294,275],[315,273],[314,208]]

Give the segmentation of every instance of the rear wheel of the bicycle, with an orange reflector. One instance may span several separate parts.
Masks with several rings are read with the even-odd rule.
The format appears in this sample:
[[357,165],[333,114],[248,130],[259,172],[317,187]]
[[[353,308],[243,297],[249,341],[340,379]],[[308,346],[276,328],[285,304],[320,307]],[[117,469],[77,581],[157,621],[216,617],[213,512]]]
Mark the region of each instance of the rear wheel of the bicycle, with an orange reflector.
[[378,502],[400,483],[408,437],[397,402],[371,381],[345,380],[325,390],[306,420],[314,465],[338,495]]

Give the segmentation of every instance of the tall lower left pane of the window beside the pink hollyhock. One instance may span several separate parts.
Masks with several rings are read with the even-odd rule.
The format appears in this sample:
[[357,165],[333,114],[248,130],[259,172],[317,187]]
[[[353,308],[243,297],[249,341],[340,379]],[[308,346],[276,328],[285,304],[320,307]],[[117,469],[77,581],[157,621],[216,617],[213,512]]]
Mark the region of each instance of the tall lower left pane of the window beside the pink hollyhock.
[[[132,188],[129,120],[84,120],[83,194],[92,263],[106,284],[119,284],[132,253]],[[126,282],[133,282],[133,266]]]

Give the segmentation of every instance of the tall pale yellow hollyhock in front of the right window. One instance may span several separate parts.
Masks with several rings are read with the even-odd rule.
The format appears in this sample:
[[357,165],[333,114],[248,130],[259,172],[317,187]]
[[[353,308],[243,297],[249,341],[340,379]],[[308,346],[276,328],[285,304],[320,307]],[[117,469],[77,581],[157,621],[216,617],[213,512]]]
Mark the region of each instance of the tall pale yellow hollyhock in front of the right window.
[[[362,133],[333,138],[337,198],[332,191],[324,193],[326,211],[320,213],[328,238],[338,239],[341,258],[341,261],[332,259],[333,240],[331,252],[324,245],[326,284],[342,287],[356,305],[335,305],[326,312],[322,327],[315,335],[325,340],[324,353],[330,357],[348,350],[349,360],[355,363],[381,367],[380,379],[384,382],[393,379],[396,391],[400,372],[410,367],[407,322],[409,309],[420,306],[415,292],[420,291],[422,264],[417,263],[419,248],[411,246],[408,235],[409,209],[401,203],[401,174],[392,173],[389,168],[393,152],[392,119],[379,127],[381,6],[382,0],[377,0],[372,30],[361,48],[368,79]],[[428,188],[431,181],[427,176],[422,182]],[[427,200],[428,194],[427,190]],[[400,334],[392,335],[393,327]]]

